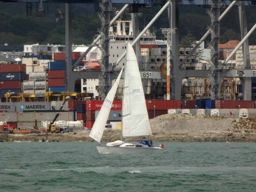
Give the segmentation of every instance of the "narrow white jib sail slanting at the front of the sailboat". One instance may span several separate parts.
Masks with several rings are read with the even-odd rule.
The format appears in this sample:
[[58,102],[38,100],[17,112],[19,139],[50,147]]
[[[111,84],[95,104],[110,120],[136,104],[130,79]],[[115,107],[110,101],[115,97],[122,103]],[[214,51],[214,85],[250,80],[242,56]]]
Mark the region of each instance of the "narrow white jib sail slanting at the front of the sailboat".
[[[123,67],[124,68],[124,67]],[[102,107],[100,108],[100,112],[99,115],[97,116],[93,127],[92,127],[92,131],[90,132],[90,137],[93,138],[93,140],[100,142],[101,138],[102,138],[102,134],[104,132],[105,126],[106,126],[106,122],[108,120],[108,115],[109,115],[109,111],[111,109],[114,97],[115,97],[115,93],[116,93],[116,89],[118,87],[118,83],[120,81],[122,72],[123,72],[123,68],[120,72],[120,74],[118,75],[115,83],[113,84],[111,90],[108,92],[108,95],[106,97],[106,99],[104,100]]]

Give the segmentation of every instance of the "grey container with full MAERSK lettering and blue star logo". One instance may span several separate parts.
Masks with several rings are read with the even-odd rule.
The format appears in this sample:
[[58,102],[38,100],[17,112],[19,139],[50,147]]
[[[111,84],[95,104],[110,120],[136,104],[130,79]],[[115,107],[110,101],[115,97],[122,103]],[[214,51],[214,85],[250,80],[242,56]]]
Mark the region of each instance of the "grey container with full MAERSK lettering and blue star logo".
[[50,102],[16,102],[17,112],[49,111]]

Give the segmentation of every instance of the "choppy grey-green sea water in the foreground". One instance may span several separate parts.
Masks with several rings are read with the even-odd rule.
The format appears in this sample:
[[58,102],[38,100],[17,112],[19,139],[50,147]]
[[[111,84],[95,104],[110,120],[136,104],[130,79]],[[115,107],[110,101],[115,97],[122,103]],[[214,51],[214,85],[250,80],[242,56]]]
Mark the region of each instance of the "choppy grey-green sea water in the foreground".
[[0,143],[0,191],[256,190],[256,143],[164,143],[150,155],[96,145]]

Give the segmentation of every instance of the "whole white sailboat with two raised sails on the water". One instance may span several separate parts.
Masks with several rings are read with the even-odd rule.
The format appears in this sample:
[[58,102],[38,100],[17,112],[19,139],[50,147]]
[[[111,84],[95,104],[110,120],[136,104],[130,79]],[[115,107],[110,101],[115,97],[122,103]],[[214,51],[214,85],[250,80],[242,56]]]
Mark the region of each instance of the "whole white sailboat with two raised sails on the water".
[[90,137],[100,143],[123,70],[122,139],[107,143],[106,146],[98,145],[97,150],[100,154],[148,154],[163,150],[163,144],[152,147],[147,141],[136,143],[123,141],[123,138],[152,136],[138,61],[130,43],[127,44],[125,69],[122,68],[106,96]]

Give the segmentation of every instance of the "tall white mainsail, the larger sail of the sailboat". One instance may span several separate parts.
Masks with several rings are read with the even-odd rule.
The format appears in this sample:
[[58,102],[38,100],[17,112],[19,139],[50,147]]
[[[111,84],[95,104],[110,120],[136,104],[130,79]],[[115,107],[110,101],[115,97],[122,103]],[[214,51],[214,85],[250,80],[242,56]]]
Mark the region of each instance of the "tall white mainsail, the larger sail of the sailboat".
[[131,44],[128,44],[122,106],[122,136],[150,135],[152,135],[152,131],[148,120],[140,70],[134,50]]

